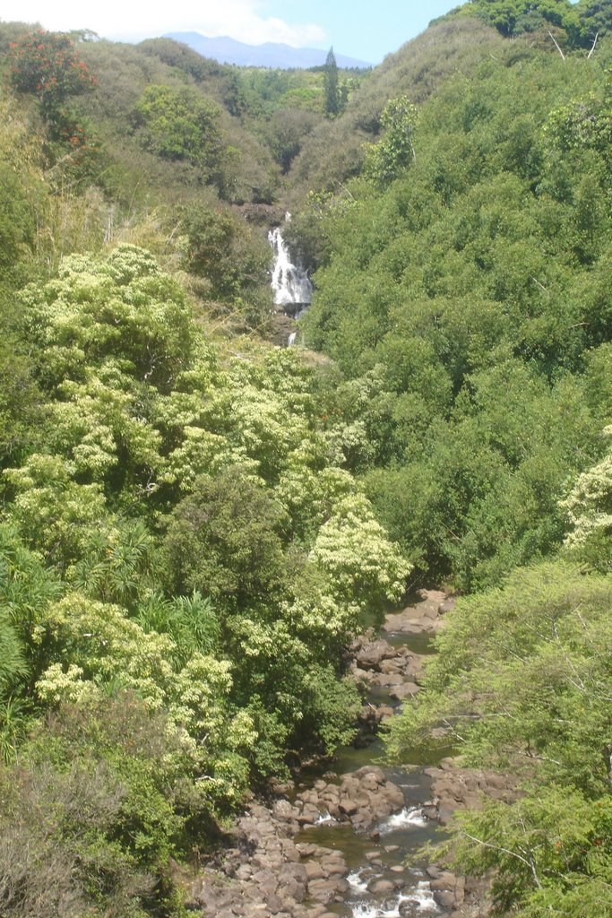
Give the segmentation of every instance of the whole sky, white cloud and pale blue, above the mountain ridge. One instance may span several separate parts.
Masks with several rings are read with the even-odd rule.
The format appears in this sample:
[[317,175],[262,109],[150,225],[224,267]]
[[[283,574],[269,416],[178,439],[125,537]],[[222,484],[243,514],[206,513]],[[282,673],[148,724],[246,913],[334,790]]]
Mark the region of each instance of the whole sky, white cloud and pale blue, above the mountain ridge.
[[295,48],[334,50],[370,63],[414,38],[458,0],[1,0],[5,22],[43,28],[89,28],[102,38],[134,41],[166,32],[228,35],[247,44],[280,41]]

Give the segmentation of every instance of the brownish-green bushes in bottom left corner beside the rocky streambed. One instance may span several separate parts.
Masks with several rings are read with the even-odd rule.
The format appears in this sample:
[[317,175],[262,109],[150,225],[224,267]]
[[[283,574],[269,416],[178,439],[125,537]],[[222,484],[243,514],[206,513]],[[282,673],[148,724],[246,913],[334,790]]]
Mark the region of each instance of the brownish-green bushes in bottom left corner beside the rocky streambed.
[[169,858],[206,837],[208,808],[161,713],[133,696],[66,706],[20,765],[0,767],[3,914],[184,913]]

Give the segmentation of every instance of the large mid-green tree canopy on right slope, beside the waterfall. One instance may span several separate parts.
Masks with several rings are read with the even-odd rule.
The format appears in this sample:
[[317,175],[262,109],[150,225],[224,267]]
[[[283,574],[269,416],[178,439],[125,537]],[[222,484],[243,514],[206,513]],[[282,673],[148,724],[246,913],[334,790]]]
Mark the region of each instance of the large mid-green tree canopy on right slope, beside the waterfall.
[[435,580],[486,586],[559,547],[558,501],[601,455],[609,93],[594,60],[511,47],[417,121],[387,106],[351,198],[310,210],[306,339],[347,377],[328,416],[362,425],[352,467]]

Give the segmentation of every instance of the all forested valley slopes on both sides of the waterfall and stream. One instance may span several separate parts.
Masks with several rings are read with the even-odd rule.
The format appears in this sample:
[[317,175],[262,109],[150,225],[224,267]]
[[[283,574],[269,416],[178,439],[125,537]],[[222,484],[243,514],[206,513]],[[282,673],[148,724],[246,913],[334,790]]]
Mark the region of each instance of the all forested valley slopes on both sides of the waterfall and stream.
[[2,918],[186,915],[424,587],[466,598],[388,754],[521,786],[444,856],[612,910],[611,28],[474,0],[351,73],[0,24]]

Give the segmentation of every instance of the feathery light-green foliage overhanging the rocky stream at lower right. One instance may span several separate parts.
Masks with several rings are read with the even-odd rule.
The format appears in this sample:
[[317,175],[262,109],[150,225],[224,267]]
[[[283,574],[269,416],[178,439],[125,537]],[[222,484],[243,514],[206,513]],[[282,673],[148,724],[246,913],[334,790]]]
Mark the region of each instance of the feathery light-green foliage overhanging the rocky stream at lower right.
[[612,908],[611,602],[609,577],[561,563],[462,601],[427,691],[393,722],[392,755],[451,742],[467,765],[519,778],[515,803],[463,813],[447,845],[460,868],[495,869],[503,914],[585,918]]

